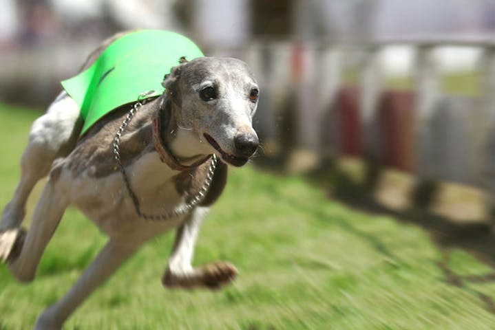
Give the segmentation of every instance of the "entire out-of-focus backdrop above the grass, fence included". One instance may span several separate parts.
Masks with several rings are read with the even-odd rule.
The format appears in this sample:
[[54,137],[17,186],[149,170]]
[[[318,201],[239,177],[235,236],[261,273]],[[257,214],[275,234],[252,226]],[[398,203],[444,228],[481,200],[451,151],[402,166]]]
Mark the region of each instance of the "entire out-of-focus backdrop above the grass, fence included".
[[3,102],[46,107],[115,32],[175,30],[249,63],[263,155],[289,170],[357,156],[371,184],[383,165],[428,192],[436,179],[495,189],[492,0],[0,1]]

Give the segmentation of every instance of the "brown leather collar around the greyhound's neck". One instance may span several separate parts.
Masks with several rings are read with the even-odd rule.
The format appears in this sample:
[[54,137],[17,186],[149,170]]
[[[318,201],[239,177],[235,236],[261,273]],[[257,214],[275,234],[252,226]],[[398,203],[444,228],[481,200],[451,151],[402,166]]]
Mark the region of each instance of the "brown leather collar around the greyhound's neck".
[[[169,126],[169,118],[165,116],[164,120],[162,120],[160,114],[163,112],[166,115],[166,111],[169,111],[169,109],[164,109],[165,105],[165,97],[161,96],[160,100],[158,100],[158,106],[153,118],[153,142],[156,148],[156,151],[158,152],[158,155],[160,156],[160,160],[167,164],[169,168],[172,170],[191,170],[192,168],[196,168],[203,164],[204,162],[207,162],[208,159],[211,158],[211,155],[208,155],[204,159],[200,159],[198,162],[192,164],[192,165],[183,165],[180,164],[179,160],[177,159],[176,156],[173,155],[167,144],[163,141],[163,135],[161,134],[162,129],[167,128]],[[165,122],[165,123],[164,123]],[[162,127],[165,126],[165,127]]]

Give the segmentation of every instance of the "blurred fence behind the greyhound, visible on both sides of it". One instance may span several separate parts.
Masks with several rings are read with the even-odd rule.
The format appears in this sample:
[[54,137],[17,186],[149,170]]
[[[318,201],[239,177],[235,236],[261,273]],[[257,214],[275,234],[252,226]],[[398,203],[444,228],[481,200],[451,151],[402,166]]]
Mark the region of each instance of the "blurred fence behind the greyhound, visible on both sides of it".
[[[415,50],[410,90],[386,83],[381,52],[393,45]],[[441,90],[435,51],[452,46],[481,50],[479,96]],[[3,96],[18,82],[21,93],[51,97],[89,50],[83,44],[0,52],[1,63],[8,63],[0,72]],[[418,36],[348,45],[258,40],[207,53],[244,59],[260,80],[257,126],[268,155],[294,148],[316,160],[359,155],[495,196],[495,38]]]

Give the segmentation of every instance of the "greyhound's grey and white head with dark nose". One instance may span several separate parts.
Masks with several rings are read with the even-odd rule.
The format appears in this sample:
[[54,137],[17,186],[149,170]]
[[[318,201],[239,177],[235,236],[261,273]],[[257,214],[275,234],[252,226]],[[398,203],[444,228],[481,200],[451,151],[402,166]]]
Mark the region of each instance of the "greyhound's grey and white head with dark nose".
[[253,129],[260,88],[246,63],[235,58],[181,61],[163,80],[179,129],[198,138],[198,153],[246,164],[259,144]]

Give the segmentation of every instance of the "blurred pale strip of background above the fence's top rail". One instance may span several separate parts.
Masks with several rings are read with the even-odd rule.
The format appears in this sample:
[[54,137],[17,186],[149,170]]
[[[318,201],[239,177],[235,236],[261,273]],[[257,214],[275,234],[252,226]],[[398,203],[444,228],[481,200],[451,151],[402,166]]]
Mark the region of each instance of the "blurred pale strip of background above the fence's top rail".
[[215,46],[260,36],[349,42],[495,29],[492,0],[0,0],[0,6],[2,48],[132,28],[180,30]]

